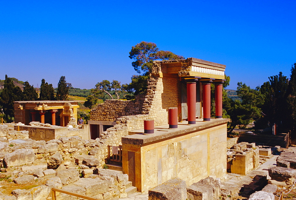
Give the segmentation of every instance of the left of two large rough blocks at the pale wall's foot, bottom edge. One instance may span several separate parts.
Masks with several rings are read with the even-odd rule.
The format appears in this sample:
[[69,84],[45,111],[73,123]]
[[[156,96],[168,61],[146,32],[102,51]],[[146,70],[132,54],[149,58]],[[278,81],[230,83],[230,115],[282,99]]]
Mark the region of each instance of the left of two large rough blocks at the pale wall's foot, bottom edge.
[[149,200],[168,199],[182,200],[186,199],[186,183],[180,178],[171,178],[170,180],[151,188],[148,192]]

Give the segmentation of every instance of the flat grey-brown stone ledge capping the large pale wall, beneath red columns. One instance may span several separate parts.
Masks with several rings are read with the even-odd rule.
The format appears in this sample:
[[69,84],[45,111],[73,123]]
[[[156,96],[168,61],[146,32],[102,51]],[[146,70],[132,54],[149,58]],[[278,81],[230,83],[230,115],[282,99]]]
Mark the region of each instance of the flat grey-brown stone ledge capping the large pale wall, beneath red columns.
[[230,119],[211,119],[211,121],[197,121],[194,125],[188,125],[185,123],[178,123],[177,129],[168,129],[163,128],[167,125],[156,126],[154,134],[144,135],[144,129],[129,131],[129,134],[132,132],[142,133],[142,134],[133,134],[127,135],[121,138],[122,144],[134,144],[134,145],[146,145],[151,142],[157,142],[160,140],[166,140],[178,135],[189,134],[191,132],[200,131],[201,129],[207,129],[213,126],[218,126],[229,122]]

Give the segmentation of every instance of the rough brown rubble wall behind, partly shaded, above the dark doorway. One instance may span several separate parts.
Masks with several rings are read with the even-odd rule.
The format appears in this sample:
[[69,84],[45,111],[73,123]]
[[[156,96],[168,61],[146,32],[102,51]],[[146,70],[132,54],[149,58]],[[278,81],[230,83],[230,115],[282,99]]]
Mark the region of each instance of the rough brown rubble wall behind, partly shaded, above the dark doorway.
[[135,100],[107,99],[97,108],[91,110],[94,121],[116,121],[118,117],[142,114],[144,96],[138,95]]

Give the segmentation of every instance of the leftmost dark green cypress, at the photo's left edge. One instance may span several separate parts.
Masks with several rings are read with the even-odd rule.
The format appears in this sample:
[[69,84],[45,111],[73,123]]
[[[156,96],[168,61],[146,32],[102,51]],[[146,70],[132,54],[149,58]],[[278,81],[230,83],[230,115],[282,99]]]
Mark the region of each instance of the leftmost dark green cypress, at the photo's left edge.
[[20,87],[16,87],[13,84],[11,78],[5,75],[4,80],[4,89],[1,92],[0,104],[2,105],[3,113],[5,114],[6,120],[10,118],[12,121],[12,117],[14,117],[14,101],[20,101],[22,95],[22,90]]

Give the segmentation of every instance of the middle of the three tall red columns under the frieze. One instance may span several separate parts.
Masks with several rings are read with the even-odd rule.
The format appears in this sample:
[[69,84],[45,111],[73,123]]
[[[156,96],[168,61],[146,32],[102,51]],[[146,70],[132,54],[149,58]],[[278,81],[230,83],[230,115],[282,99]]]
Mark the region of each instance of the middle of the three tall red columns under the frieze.
[[203,121],[211,120],[211,82],[212,80],[204,80],[202,82],[202,110]]

